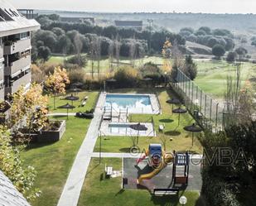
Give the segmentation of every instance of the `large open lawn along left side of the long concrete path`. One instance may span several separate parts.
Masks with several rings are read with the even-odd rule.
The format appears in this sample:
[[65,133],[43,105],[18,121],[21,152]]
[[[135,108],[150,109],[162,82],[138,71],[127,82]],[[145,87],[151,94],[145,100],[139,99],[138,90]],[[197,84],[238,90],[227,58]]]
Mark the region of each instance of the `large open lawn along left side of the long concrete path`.
[[[89,101],[84,109],[94,108],[97,93],[86,93]],[[65,119],[65,117],[51,118]],[[31,203],[33,206],[56,206],[89,123],[90,120],[87,119],[70,117],[66,121],[66,131],[60,141],[52,144],[32,144],[27,150],[22,151],[22,160],[25,164],[34,166],[37,172],[35,188],[42,191],[41,196]]]

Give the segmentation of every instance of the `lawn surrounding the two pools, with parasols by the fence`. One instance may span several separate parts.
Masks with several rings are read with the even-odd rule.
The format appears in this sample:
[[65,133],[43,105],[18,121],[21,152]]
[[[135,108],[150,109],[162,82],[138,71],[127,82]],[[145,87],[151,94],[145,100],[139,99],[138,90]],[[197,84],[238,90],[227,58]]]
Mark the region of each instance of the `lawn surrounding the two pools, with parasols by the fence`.
[[[167,99],[173,95],[165,89],[118,89],[112,92],[116,93],[152,93],[156,92],[162,106],[162,114],[160,115],[145,115],[132,114],[129,116],[130,122],[150,122],[153,117],[157,137],[139,137],[138,146],[141,149],[147,149],[150,143],[161,143],[166,140],[167,151],[193,151],[201,153],[202,147],[197,141],[196,135],[194,138],[194,146],[191,146],[191,133],[185,132],[183,127],[191,125],[194,120],[188,114],[181,114],[181,122],[178,127],[178,115],[171,113],[171,105],[167,104]],[[158,132],[159,124],[165,125],[164,133]],[[160,138],[161,137],[161,138]],[[172,141],[170,141],[172,138]],[[133,146],[131,137],[106,137],[102,138],[102,151],[104,152],[129,152],[129,148]],[[99,151],[99,139],[95,145],[94,151]]]

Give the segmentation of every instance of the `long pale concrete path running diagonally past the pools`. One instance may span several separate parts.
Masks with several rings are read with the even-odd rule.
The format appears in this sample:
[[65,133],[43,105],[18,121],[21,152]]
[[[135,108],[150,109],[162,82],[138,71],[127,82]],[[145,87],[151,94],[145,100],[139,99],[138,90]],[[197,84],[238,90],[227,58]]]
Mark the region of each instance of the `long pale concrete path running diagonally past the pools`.
[[80,198],[80,191],[84,184],[85,175],[89,166],[89,161],[94,151],[94,145],[98,138],[99,124],[102,117],[102,107],[105,96],[100,94],[99,101],[95,108],[94,118],[89,124],[85,140],[80,146],[75,161],[70,170],[68,179],[60,196],[58,206],[76,206]]

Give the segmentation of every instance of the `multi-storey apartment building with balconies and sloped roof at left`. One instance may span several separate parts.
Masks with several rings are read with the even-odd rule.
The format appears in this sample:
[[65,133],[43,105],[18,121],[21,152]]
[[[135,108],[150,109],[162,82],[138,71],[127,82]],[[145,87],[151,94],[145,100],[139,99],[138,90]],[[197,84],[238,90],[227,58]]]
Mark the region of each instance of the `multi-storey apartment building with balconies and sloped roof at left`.
[[7,1],[0,0],[0,101],[31,84],[31,31],[40,28]]

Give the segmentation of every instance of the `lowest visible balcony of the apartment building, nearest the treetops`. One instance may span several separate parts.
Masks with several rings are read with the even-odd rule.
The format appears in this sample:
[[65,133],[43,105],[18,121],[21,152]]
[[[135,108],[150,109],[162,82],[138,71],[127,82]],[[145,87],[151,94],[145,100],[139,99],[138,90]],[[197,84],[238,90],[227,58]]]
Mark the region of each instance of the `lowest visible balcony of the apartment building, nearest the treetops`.
[[31,72],[11,82],[11,85],[5,88],[5,96],[7,96],[8,93],[10,94],[16,93],[21,86],[27,87],[27,85],[29,85],[30,83],[31,83]]

